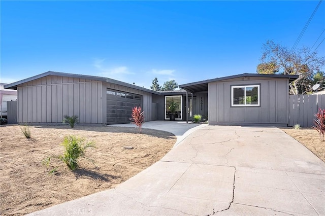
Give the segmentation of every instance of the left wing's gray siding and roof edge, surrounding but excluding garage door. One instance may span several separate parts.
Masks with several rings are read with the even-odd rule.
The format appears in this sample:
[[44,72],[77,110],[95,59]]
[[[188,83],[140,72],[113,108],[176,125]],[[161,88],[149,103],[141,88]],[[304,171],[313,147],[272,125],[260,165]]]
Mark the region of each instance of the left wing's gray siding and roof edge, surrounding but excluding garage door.
[[[146,121],[152,119],[151,90],[108,78],[48,71],[5,88],[18,90],[18,123],[22,124],[62,123],[64,115],[77,115],[80,123],[106,124],[107,89],[141,95]],[[123,123],[129,122],[124,119]]]

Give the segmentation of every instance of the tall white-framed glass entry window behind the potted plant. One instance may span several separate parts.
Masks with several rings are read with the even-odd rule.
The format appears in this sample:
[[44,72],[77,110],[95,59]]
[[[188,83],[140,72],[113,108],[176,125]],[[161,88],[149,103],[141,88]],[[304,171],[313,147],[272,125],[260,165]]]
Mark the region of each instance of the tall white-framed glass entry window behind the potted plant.
[[[173,110],[172,104],[175,104]],[[170,115],[174,114],[176,120],[182,120],[182,107],[183,100],[182,96],[165,96],[165,120],[170,119]],[[171,109],[169,109],[171,108]]]

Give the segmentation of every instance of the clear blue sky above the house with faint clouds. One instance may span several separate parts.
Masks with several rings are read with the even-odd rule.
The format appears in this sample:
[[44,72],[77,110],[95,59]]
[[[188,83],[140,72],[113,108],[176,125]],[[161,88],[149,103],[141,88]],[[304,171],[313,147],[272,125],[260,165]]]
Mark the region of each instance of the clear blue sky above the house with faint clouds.
[[[150,88],[155,77],[163,85],[256,73],[263,43],[291,48],[318,2],[1,1],[0,82],[52,70]],[[324,29],[322,3],[297,48]],[[325,42],[317,50],[325,56]]]

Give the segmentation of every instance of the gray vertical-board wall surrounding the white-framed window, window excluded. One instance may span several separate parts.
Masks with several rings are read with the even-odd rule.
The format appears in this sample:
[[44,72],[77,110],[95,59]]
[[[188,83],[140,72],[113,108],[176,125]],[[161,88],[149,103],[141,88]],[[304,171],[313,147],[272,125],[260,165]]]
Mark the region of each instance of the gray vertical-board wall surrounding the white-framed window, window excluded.
[[[259,106],[232,106],[231,87],[236,85],[259,85]],[[241,77],[210,82],[208,92],[210,125],[287,126],[288,124],[288,79]]]

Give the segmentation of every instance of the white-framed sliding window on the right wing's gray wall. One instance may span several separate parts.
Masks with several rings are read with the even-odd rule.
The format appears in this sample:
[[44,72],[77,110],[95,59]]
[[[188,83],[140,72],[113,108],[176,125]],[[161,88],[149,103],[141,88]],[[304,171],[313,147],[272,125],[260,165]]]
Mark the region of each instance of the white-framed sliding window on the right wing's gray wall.
[[232,106],[259,106],[259,85],[232,86]]

